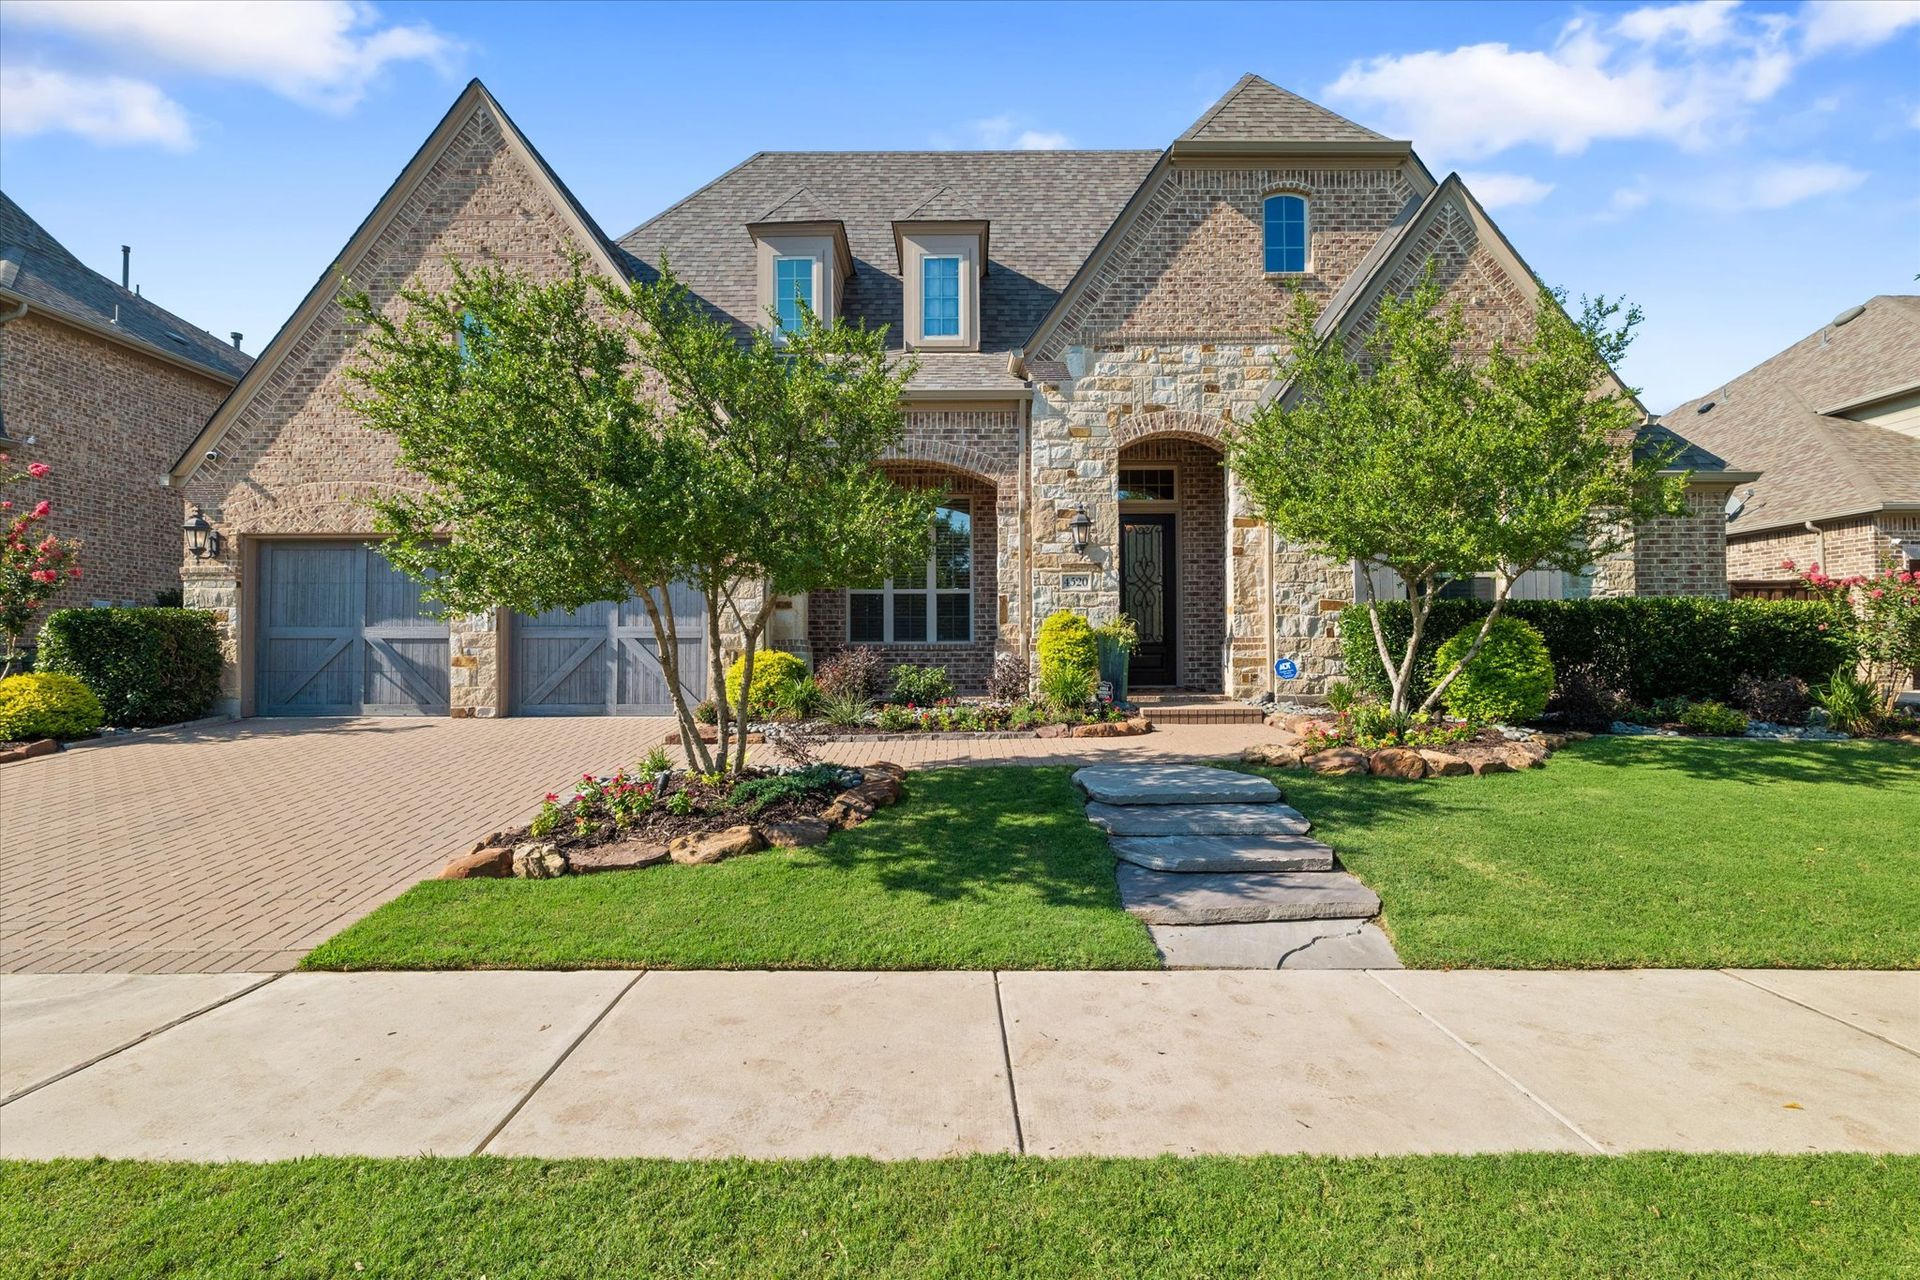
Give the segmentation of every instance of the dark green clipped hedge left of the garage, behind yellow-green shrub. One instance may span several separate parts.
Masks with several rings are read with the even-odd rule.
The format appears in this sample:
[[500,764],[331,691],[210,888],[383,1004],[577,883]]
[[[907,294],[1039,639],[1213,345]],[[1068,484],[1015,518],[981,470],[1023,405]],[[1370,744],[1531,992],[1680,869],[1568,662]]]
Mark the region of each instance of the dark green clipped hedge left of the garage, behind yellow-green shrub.
[[106,723],[200,720],[221,697],[221,635],[202,608],[60,608],[36,668],[94,691]]

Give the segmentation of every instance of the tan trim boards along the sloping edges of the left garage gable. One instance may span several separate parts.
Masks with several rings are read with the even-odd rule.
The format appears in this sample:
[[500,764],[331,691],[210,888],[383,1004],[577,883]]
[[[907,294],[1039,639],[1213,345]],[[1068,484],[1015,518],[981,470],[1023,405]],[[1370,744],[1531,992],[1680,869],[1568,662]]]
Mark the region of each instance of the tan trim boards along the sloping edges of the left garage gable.
[[541,182],[547,188],[555,207],[563,213],[566,223],[570,223],[570,230],[586,249],[588,261],[605,271],[609,276],[620,280],[628,278],[628,263],[618,248],[607,238],[607,232],[599,228],[574,194],[566,190],[566,184],[553,173],[545,157],[534,150],[534,144],[526,140],[526,134],[522,134],[513,123],[513,117],[509,117],[499,102],[493,100],[493,94],[488,92],[486,84],[480,81],[468,81],[467,88],[461,90],[461,96],[453,100],[453,106],[447,107],[447,113],[440,117],[440,123],[426,136],[426,142],[420,144],[420,150],[413,154],[407,167],[399,171],[394,184],[386,188],[380,201],[353,230],[346,248],[340,249],[334,261],[328,263],[326,271],[321,273],[321,278],[313,282],[313,288],[307,290],[307,296],[300,301],[300,307],[294,309],[294,315],[288,317],[286,324],[280,326],[280,332],[273,336],[273,342],[261,349],[259,359],[246,370],[246,376],[240,378],[238,386],[234,386],[234,390],[227,393],[227,399],[215,407],[213,416],[207,418],[207,424],[200,430],[200,436],[194,438],[194,443],[186,445],[186,451],[180,453],[179,461],[175,461],[171,484],[180,484],[194,474],[205,459],[207,449],[213,447],[227,426],[232,424],[232,420],[246,409],[253,395],[259,393],[267,380],[273,378],[273,372],[280,367],[288,351],[294,344],[298,344],[300,336],[307,330],[319,311],[334,299],[340,290],[342,274],[351,271],[353,263],[365,257],[380,234],[386,232],[394,217],[413,194],[415,186],[419,186],[419,182],[434,167],[476,107],[486,107],[493,119],[499,121],[499,130],[507,140],[507,146],[524,165],[528,165],[536,182]]

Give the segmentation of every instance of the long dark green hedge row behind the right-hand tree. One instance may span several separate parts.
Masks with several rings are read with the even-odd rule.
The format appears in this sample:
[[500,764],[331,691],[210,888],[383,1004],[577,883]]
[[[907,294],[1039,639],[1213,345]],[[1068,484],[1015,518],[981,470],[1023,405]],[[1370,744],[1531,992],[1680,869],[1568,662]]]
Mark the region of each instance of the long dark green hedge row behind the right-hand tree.
[[[1434,601],[1415,660],[1415,699],[1427,697],[1434,651],[1488,608],[1486,601]],[[1507,601],[1503,614],[1540,629],[1555,672],[1588,670],[1638,704],[1668,697],[1730,700],[1745,676],[1816,683],[1859,660],[1851,620],[1822,601]],[[1411,606],[1380,604],[1380,626],[1388,649],[1400,654],[1413,631]],[[1365,604],[1340,612],[1340,649],[1348,679],[1386,697]]]

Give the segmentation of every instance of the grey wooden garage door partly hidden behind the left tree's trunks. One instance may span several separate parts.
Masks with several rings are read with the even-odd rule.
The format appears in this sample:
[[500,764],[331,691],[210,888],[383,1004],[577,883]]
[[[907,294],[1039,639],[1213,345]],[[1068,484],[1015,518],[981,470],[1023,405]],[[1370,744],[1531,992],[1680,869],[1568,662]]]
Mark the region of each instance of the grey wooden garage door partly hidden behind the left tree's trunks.
[[[689,702],[707,697],[707,622],[699,591],[668,593]],[[513,710],[520,716],[672,716],[660,651],[639,599],[513,618]]]

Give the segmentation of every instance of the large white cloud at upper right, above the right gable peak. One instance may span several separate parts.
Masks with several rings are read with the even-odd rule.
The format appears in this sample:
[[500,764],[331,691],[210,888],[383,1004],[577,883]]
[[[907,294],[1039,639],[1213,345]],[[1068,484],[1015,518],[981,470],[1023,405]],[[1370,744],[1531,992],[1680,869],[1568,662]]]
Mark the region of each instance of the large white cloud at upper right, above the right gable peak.
[[1327,94],[1450,157],[1524,144],[1574,155],[1626,138],[1703,150],[1738,136],[1791,79],[1788,31],[1782,15],[1734,4],[1649,6],[1611,23],[1574,17],[1544,50],[1490,42],[1356,61]]

